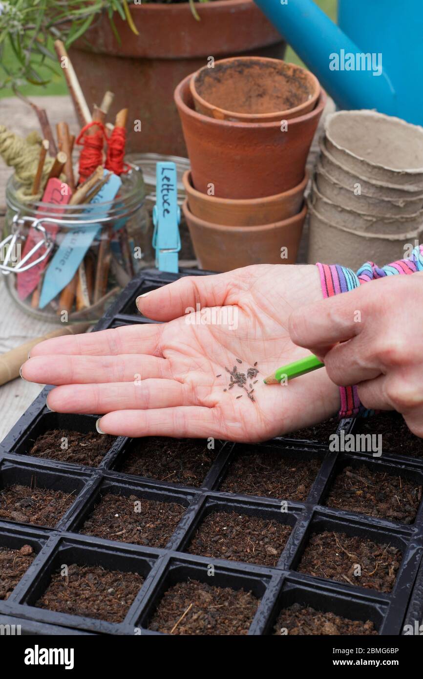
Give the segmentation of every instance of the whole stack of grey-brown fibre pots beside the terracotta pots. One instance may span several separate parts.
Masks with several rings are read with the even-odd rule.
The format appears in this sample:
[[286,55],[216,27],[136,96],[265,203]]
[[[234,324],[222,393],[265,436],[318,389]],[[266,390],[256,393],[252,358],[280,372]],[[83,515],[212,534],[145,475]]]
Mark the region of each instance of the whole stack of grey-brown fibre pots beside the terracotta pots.
[[423,128],[375,111],[329,115],[308,204],[310,263],[406,256],[423,232]]

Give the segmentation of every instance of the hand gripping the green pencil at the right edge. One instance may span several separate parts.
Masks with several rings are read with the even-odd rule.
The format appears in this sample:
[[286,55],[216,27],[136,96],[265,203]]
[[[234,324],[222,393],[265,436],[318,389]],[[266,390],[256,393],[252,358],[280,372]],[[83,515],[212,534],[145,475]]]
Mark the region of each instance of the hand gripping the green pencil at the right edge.
[[357,384],[365,407],[399,411],[423,437],[423,272],[303,306],[289,332],[325,361],[335,384]]

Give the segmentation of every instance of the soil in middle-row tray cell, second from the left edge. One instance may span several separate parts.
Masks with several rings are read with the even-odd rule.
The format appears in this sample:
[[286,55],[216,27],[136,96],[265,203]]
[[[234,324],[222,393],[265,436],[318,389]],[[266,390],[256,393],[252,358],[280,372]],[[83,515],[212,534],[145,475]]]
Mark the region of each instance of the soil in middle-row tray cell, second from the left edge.
[[185,507],[175,502],[108,493],[79,532],[134,545],[165,547],[184,512]]

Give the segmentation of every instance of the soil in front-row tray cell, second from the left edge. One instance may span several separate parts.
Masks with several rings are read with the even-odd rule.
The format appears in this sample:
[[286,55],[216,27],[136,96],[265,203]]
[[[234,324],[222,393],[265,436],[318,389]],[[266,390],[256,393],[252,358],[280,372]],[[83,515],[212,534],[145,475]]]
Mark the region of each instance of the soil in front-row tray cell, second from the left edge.
[[139,573],[71,564],[67,576],[52,575],[50,585],[35,606],[122,623],[143,582]]

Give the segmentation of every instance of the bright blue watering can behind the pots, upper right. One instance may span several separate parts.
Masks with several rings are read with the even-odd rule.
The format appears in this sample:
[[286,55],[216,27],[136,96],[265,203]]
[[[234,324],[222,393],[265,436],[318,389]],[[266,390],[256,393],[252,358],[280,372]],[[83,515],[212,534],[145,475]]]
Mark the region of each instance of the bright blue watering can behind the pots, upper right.
[[423,124],[423,0],[255,0],[342,109]]

